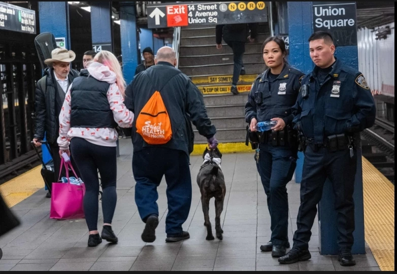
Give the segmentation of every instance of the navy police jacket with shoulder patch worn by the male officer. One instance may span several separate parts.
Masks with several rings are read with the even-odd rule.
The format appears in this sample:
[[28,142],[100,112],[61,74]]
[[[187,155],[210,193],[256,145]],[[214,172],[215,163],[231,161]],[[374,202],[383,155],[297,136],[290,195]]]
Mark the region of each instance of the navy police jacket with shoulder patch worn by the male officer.
[[374,98],[364,76],[338,60],[326,76],[317,81],[318,67],[305,75],[293,107],[294,128],[316,144],[335,134],[352,134],[375,123]]

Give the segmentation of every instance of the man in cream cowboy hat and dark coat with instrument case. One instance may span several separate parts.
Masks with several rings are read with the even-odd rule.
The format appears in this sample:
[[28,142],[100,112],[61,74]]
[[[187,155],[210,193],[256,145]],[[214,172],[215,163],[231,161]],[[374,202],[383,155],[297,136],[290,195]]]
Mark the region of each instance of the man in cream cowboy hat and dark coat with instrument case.
[[[36,146],[41,146],[44,134],[46,135],[57,177],[60,167],[59,147],[56,142],[59,136],[59,113],[66,92],[73,80],[78,77],[79,72],[70,68],[70,62],[76,58],[73,51],[57,48],[51,52],[51,57],[44,61],[48,68],[45,69],[43,78],[37,82],[36,86],[36,128],[33,142]],[[78,172],[73,160],[72,165]]]

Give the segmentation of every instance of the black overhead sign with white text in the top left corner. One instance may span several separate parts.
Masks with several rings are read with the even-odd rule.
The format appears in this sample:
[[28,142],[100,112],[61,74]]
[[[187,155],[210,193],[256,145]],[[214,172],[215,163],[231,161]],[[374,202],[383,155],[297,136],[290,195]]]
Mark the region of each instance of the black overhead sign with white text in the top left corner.
[[36,34],[36,12],[0,2],[0,30]]

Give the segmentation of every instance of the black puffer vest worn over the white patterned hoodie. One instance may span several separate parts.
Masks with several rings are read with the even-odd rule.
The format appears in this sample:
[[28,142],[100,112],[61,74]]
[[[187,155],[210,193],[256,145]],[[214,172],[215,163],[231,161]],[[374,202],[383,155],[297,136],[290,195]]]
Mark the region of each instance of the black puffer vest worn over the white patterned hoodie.
[[109,87],[109,83],[96,80],[87,70],[81,71],[71,89],[72,128],[117,127],[109,106]]

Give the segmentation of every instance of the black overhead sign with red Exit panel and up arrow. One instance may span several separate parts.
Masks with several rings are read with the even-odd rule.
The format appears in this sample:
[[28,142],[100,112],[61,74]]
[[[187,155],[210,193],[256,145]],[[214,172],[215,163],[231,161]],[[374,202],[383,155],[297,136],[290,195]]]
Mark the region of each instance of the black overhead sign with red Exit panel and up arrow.
[[180,2],[148,5],[149,28],[267,22],[267,2]]

